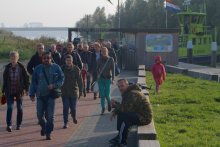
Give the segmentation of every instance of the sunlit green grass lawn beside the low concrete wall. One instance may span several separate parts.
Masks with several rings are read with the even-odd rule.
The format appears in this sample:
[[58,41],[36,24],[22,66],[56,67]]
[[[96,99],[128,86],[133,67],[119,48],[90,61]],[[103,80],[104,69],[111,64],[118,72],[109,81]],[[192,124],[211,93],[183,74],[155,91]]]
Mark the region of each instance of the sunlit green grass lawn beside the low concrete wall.
[[220,147],[220,83],[168,74],[155,94],[147,84],[161,147]]

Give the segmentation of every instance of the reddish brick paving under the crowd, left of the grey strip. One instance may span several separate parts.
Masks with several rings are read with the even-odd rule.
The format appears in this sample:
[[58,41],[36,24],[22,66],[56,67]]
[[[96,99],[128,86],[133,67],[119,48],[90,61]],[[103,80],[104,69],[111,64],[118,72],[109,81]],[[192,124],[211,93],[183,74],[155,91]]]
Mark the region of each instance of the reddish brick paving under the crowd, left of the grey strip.
[[37,124],[35,103],[31,102],[28,97],[23,101],[23,125],[21,130],[16,128],[16,107],[13,111],[13,131],[7,132],[6,129],[6,106],[1,106],[0,109],[0,147],[24,147],[24,146],[64,146],[80,124],[83,123],[86,117],[91,116],[91,110],[99,104],[99,100],[93,100],[92,94],[87,98],[81,98],[77,106],[78,124],[75,125],[69,115],[69,128],[63,129],[62,117],[62,101],[57,100],[55,111],[55,127],[52,132],[52,141],[46,141],[45,137],[40,136],[40,126]]

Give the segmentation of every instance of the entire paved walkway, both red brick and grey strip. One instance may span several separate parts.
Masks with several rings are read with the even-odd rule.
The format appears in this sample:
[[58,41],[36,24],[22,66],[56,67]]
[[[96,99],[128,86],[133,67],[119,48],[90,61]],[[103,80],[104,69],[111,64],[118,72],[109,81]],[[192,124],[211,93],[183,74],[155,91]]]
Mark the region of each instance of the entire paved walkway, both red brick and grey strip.
[[[136,72],[123,71],[120,77],[127,78],[129,82],[136,82]],[[117,79],[116,79],[117,80]],[[114,84],[111,96],[120,100],[120,93]],[[15,107],[14,107],[15,108]],[[40,126],[37,125],[35,103],[28,97],[23,101],[24,119],[22,129],[9,133],[5,131],[6,106],[0,106],[0,147],[108,147],[108,140],[116,132],[116,120],[110,121],[110,113],[101,116],[100,99],[94,100],[92,93],[81,98],[77,106],[78,124],[72,123],[69,116],[69,128],[62,129],[62,101],[57,100],[55,111],[55,128],[52,133],[53,140],[46,141],[40,136]],[[13,124],[16,122],[16,109],[13,112]],[[16,126],[13,125],[13,128]],[[128,147],[136,147],[134,132],[129,135]]]

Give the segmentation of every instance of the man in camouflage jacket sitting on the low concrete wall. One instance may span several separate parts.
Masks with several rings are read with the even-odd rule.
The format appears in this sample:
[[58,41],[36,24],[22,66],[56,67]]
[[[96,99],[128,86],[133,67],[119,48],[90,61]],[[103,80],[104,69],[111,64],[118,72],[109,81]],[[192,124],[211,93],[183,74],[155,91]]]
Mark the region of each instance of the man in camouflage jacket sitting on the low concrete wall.
[[122,94],[121,103],[112,100],[115,108],[111,120],[117,115],[118,135],[109,142],[115,146],[127,144],[128,129],[133,125],[147,125],[152,120],[152,110],[148,98],[141,93],[137,85],[130,85],[125,79],[118,80],[118,88]]

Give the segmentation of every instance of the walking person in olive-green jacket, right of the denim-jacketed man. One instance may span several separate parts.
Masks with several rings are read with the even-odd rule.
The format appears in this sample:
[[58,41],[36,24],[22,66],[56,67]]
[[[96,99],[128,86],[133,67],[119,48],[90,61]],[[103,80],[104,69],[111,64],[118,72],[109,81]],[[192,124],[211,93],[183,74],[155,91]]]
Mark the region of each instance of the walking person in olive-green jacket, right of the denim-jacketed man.
[[73,57],[67,55],[65,59],[66,64],[62,67],[65,80],[62,91],[62,101],[63,101],[63,128],[68,128],[68,115],[69,109],[71,110],[71,116],[73,118],[73,123],[77,124],[76,119],[76,104],[80,96],[82,96],[83,82],[80,69],[73,64]]

